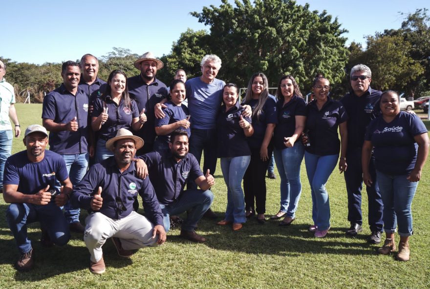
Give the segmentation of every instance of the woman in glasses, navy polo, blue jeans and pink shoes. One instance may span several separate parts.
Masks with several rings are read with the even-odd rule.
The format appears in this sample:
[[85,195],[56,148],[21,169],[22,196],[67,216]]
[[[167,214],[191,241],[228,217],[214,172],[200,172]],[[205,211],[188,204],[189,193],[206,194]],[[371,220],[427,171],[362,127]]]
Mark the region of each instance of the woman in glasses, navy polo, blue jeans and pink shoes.
[[[330,83],[323,77],[314,80],[312,91],[315,99],[307,107],[304,161],[311,186],[312,219],[309,227],[315,237],[323,238],[330,229],[330,203],[325,184],[338,163],[339,170],[346,170],[347,115],[342,103],[329,96]],[[341,140],[338,137],[338,127]]]

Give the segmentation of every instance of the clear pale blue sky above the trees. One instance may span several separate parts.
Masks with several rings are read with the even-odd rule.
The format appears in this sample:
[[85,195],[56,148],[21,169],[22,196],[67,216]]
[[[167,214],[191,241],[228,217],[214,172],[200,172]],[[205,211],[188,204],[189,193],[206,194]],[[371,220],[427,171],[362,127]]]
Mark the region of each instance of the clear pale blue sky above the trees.
[[[230,1],[233,2],[233,1]],[[398,12],[430,8],[425,0],[298,0],[310,10],[338,17],[351,41],[399,28]],[[79,59],[85,53],[107,55],[112,47],[143,54],[168,54],[172,42],[187,28],[206,29],[189,13],[220,0],[2,0],[0,56],[42,64]]]

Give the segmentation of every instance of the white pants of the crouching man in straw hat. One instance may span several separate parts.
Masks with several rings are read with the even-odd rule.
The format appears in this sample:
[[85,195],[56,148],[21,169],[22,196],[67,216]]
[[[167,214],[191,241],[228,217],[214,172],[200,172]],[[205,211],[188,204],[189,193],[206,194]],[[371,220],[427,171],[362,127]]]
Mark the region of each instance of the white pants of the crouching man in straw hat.
[[84,241],[92,262],[102,258],[102,246],[110,237],[120,238],[122,248],[125,250],[157,246],[158,235],[152,239],[154,226],[135,211],[121,220],[111,219],[96,212],[86,217],[85,222]]

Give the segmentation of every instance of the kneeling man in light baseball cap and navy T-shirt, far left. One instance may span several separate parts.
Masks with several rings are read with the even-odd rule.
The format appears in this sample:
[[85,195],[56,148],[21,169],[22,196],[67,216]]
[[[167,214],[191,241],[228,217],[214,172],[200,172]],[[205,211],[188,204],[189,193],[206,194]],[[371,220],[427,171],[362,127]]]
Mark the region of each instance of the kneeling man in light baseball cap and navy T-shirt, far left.
[[[63,158],[45,150],[48,133],[42,125],[28,126],[23,142],[26,150],[6,161],[3,198],[6,203],[11,203],[6,210],[6,219],[21,252],[16,268],[25,271],[34,265],[27,224],[40,222],[43,246],[63,246],[70,239],[69,227],[60,206],[69,199],[72,183]],[[60,191],[55,189],[56,180],[62,184]]]

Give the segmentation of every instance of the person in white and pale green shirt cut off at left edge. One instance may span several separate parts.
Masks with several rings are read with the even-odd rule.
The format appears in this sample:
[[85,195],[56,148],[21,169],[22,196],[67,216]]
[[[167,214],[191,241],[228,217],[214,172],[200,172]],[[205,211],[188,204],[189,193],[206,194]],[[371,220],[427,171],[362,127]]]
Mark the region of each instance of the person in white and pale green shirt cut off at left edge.
[[6,82],[6,64],[0,60],[0,193],[3,191],[4,163],[12,151],[12,125],[15,124],[15,137],[21,134],[21,127],[15,109],[15,93],[13,86]]

